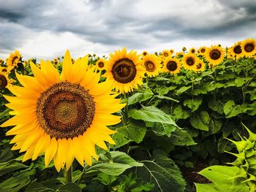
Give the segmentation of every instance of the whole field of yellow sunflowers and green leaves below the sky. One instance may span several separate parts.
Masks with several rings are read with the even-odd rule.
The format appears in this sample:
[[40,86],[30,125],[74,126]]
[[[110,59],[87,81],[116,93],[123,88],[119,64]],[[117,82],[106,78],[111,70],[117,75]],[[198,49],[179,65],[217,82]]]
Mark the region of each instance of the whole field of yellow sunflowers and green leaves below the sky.
[[256,39],[0,59],[0,192],[256,191]]

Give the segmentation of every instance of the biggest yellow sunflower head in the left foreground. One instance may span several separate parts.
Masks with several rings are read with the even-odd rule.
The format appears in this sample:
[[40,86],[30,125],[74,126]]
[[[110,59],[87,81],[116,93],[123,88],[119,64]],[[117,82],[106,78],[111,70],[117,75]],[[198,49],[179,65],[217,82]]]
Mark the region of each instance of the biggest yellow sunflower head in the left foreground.
[[98,159],[95,145],[107,150],[105,142],[115,144],[107,126],[120,122],[111,115],[124,107],[111,95],[109,82],[99,82],[99,73],[88,68],[88,58],[72,64],[67,50],[61,75],[50,61],[41,61],[41,69],[31,62],[34,77],[16,73],[23,87],[9,88],[15,96],[4,96],[15,115],[1,126],[15,126],[7,135],[15,135],[12,150],[25,152],[23,161],[45,153],[45,166],[53,159],[59,172],[68,170],[76,158],[84,166],[91,157]]

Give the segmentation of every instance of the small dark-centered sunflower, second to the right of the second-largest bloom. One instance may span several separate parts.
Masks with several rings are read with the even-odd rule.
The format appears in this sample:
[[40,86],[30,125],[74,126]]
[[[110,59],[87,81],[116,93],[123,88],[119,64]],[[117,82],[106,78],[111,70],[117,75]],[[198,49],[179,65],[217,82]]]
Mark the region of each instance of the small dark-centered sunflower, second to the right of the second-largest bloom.
[[177,74],[181,71],[181,63],[178,61],[178,58],[168,57],[165,59],[164,65],[162,66],[162,71]]

